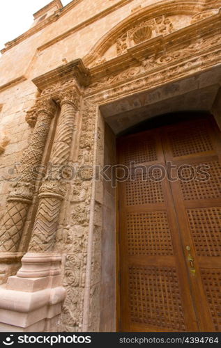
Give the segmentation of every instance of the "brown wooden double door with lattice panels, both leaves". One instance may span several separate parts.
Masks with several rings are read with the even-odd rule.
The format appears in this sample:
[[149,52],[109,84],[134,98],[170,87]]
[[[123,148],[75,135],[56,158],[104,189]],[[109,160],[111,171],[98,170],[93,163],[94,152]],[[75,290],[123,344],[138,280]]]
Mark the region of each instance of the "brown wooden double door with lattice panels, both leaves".
[[119,139],[120,331],[221,331],[220,139],[212,117]]

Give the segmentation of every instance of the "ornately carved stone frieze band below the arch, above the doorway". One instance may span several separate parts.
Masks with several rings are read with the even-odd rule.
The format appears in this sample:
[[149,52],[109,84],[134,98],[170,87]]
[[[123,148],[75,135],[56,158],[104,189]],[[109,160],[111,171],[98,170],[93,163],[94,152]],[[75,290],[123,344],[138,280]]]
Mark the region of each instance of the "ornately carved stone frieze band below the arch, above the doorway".
[[[95,82],[91,84],[89,88],[87,88],[86,93],[88,94],[96,94],[100,90],[104,90],[105,88],[113,88],[113,86],[117,86],[118,84],[125,84],[125,81],[130,81],[137,77],[145,76],[146,72],[151,72],[148,77],[142,79],[140,82],[136,81],[134,86],[144,86],[146,88],[146,83],[144,81],[157,81],[160,79],[160,76],[167,76],[169,79],[171,78],[171,73],[174,74],[182,73],[183,68],[185,67],[185,72],[188,72],[188,69],[191,70],[193,65],[196,65],[197,61],[200,61],[201,64],[207,64],[212,60],[218,60],[220,56],[220,49],[218,49],[218,45],[221,44],[221,36],[220,34],[213,35],[209,38],[199,38],[194,43],[183,47],[182,49],[177,49],[172,52],[168,52],[168,54],[154,54],[152,56],[148,56],[142,59],[140,65],[132,66],[131,68],[125,69],[123,72],[119,74],[113,74],[108,77],[104,77],[100,79],[99,83]],[[214,46],[215,52],[211,52],[211,48]],[[208,54],[206,53],[208,51]],[[196,54],[197,52],[197,54]],[[205,53],[204,53],[205,52]],[[192,58],[193,54],[195,54],[194,58]],[[185,61],[183,62],[183,58]],[[179,63],[179,61],[181,63]],[[215,62],[214,62],[215,63]],[[176,65],[170,70],[165,71],[164,65]],[[156,79],[155,77],[158,77]],[[117,88],[115,89],[115,91]],[[121,87],[121,92],[128,93],[128,88]],[[120,93],[121,94],[121,93]],[[106,93],[107,95],[107,93]],[[103,100],[102,94],[100,97],[93,97],[93,102],[101,102]]]

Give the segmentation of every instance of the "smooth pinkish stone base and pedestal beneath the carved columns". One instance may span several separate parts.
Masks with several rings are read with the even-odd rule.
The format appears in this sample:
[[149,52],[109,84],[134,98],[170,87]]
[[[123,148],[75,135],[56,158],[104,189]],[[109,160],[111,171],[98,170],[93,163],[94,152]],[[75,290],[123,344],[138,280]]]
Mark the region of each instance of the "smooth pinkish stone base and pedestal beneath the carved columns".
[[[61,286],[61,258],[31,253],[23,259],[17,276],[9,277],[0,287],[0,331],[55,332],[66,296]],[[41,273],[47,275],[31,277]]]

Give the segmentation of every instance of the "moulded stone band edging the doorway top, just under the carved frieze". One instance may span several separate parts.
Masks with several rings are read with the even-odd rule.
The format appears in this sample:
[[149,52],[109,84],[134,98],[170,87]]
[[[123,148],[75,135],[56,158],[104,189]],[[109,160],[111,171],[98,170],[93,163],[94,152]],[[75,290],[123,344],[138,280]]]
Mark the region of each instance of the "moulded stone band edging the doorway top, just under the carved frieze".
[[[128,79],[123,79],[123,75],[116,75],[114,83],[107,81],[107,84],[86,90],[86,100],[93,104],[107,104],[113,100],[119,100],[130,94],[142,93],[146,90],[154,90],[158,86],[184,79],[185,77],[195,76],[201,72],[209,71],[213,68],[221,69],[221,47],[215,51],[183,58],[181,61],[174,61],[161,68],[143,71],[139,67],[130,68]],[[126,74],[126,73],[125,73]],[[221,79],[214,84],[221,86]]]

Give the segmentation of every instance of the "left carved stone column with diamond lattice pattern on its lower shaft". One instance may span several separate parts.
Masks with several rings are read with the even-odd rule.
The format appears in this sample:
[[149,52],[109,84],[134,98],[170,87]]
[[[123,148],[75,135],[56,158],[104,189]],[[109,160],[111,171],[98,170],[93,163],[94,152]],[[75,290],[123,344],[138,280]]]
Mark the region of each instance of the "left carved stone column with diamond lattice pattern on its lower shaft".
[[33,199],[33,168],[40,164],[50,123],[56,111],[51,99],[40,100],[36,106],[36,126],[24,151],[19,178],[8,196],[6,212],[0,225],[0,251],[16,252],[22,237],[29,205]]

